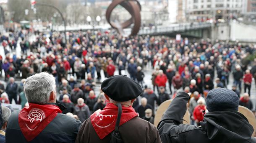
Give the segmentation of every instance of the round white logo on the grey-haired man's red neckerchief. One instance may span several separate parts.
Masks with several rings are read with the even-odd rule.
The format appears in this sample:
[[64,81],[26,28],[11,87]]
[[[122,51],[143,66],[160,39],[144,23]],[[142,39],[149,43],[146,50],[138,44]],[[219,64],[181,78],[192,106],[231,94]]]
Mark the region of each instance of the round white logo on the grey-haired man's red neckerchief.
[[42,122],[45,118],[44,111],[38,108],[33,108],[30,110],[29,115],[27,116],[28,120],[30,120],[30,123],[33,123],[34,120]]

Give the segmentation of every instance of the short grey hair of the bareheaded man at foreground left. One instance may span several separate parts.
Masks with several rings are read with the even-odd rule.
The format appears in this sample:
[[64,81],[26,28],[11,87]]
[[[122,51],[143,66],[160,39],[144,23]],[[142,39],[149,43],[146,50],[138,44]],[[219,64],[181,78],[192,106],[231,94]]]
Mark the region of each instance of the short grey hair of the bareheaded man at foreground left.
[[29,103],[46,104],[55,88],[55,78],[47,72],[35,74],[24,83],[24,92]]

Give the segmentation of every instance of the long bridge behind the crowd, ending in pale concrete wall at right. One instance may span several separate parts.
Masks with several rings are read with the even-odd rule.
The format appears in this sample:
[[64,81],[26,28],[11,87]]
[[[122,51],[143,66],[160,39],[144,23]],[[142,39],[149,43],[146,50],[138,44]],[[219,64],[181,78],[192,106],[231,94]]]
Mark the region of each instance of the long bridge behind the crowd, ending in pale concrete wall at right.
[[[109,30],[109,24],[103,26],[79,25],[67,26],[66,31],[86,31],[86,30]],[[64,26],[54,26],[55,31],[64,31]],[[130,35],[131,28],[123,30],[124,35]],[[238,21],[230,21],[229,23],[179,23],[165,26],[141,27],[138,35],[165,35],[175,37],[181,34],[182,37],[188,38],[211,38],[212,40],[230,40],[246,43],[256,42],[256,26],[246,25]]]

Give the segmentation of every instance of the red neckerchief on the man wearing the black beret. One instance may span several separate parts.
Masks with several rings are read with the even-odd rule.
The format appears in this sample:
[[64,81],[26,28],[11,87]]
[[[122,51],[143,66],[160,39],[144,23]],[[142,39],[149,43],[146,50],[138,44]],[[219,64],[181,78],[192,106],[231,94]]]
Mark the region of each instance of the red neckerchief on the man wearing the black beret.
[[[122,106],[122,115],[119,125],[123,125],[133,117],[138,116],[132,106]],[[107,103],[106,107],[99,113],[91,115],[91,124],[100,139],[105,138],[115,129],[115,122],[118,117],[118,107],[113,103]]]

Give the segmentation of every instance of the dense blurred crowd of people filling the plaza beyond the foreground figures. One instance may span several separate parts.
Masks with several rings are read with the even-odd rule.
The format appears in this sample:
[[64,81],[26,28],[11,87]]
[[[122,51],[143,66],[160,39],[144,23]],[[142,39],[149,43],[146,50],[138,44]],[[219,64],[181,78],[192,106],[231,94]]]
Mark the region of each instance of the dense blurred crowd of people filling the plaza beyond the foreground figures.
[[[102,91],[95,94],[95,86],[116,70],[118,74],[126,70],[144,89],[133,108],[150,123],[157,106],[183,90],[194,96],[188,108],[192,123],[197,125],[203,120],[200,112],[207,93],[217,87],[227,88],[230,76],[239,104],[255,110],[250,94],[256,60],[248,58],[255,54],[255,45],[209,39],[175,41],[167,36],[122,37],[108,31],[70,32],[67,44],[57,32],[35,37],[31,41],[26,31],[1,35],[5,55],[0,55],[0,75],[8,84],[4,87],[0,83],[0,102],[14,100],[22,107],[29,106],[23,89],[26,78],[48,72],[55,77],[57,102],[67,107],[63,113],[83,122],[109,102]],[[16,53],[17,44],[21,54]],[[152,71],[152,83],[144,82],[144,70]],[[16,84],[17,78],[20,84]]]

